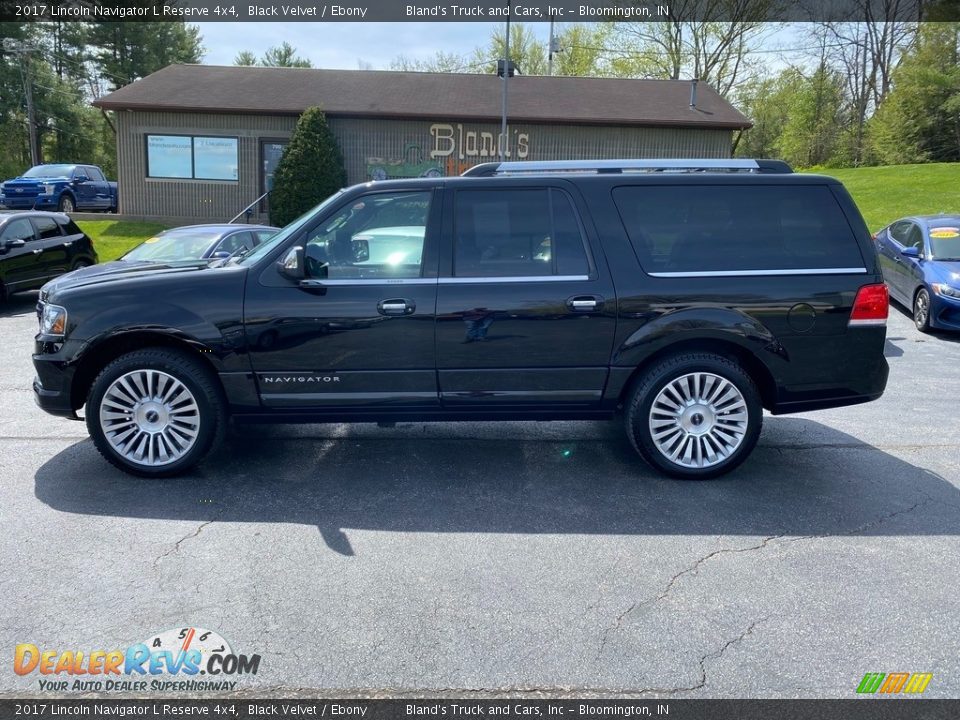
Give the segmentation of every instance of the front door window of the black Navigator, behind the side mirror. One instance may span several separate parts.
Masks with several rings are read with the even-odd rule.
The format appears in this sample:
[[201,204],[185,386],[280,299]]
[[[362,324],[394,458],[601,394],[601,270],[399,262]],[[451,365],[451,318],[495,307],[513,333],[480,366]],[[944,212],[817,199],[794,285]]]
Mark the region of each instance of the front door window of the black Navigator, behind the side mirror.
[[420,277],[430,192],[374,193],[313,228],[307,274],[335,279]]

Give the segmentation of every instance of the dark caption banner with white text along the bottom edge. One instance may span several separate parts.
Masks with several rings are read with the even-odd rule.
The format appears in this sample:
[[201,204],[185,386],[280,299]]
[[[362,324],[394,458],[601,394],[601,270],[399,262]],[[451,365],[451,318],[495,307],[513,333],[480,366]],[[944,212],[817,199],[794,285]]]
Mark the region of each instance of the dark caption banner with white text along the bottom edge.
[[[525,695],[527,693],[524,693]],[[274,720],[955,720],[960,700],[0,700],[0,718],[273,718]]]

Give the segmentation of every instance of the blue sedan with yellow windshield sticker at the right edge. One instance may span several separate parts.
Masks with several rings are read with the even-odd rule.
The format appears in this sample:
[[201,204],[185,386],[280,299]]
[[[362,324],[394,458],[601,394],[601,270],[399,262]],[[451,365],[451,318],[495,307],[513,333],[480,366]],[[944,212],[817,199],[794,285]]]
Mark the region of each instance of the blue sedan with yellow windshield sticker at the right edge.
[[875,237],[890,297],[917,329],[960,330],[960,215],[903,218]]

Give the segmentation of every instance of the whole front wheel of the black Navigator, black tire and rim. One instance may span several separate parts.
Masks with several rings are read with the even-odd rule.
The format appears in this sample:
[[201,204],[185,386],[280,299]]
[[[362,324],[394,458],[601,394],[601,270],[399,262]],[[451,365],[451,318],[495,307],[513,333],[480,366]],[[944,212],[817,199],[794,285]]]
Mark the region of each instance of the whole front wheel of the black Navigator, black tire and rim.
[[[144,383],[145,376],[138,371],[153,371],[149,375],[155,383],[152,389],[150,380]],[[134,401],[140,393],[124,389],[121,378],[134,391],[146,390],[139,405]],[[178,393],[164,404],[161,396],[172,392],[171,387],[177,388],[168,378],[179,383],[186,394]],[[192,404],[185,403],[184,397]],[[148,348],[122,355],[103,369],[87,395],[86,420],[97,450],[108,462],[140,477],[170,477],[193,467],[219,445],[226,431],[227,412],[216,376],[200,360],[177,350]],[[123,446],[121,438],[128,429],[133,434]],[[177,446],[178,441],[182,447]],[[141,461],[136,458],[138,447],[145,456]],[[172,459],[165,461],[164,452]],[[181,454],[173,457],[178,452]]]

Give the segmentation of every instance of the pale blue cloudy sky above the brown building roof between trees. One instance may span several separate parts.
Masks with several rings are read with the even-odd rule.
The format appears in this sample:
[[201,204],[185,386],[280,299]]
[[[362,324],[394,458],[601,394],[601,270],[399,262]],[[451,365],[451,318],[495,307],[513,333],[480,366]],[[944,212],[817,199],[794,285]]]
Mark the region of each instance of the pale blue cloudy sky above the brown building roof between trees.
[[[432,58],[437,51],[468,54],[485,45],[493,30],[503,23],[197,23],[203,36],[208,65],[233,65],[241,50],[260,56],[264,50],[286,40],[301,57],[317,68],[358,70],[372,67],[388,70],[399,55],[417,60]],[[532,23],[544,41],[548,23]]]

